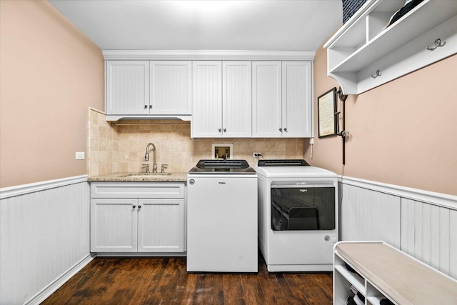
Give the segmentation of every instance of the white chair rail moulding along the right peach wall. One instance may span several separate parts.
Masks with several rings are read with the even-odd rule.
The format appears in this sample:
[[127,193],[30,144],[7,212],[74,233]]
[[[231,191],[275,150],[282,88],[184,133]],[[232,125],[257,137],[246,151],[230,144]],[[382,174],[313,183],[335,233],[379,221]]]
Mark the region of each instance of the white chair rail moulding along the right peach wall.
[[399,196],[405,199],[422,201],[428,204],[433,204],[435,206],[443,206],[448,209],[457,210],[457,196],[453,195],[436,193],[433,191],[424,191],[422,189],[413,189],[405,186],[398,186],[395,184],[384,184],[381,182],[358,179],[348,176],[338,176],[338,181],[341,184],[358,186],[363,189],[380,191],[381,193],[391,194],[393,196]]

